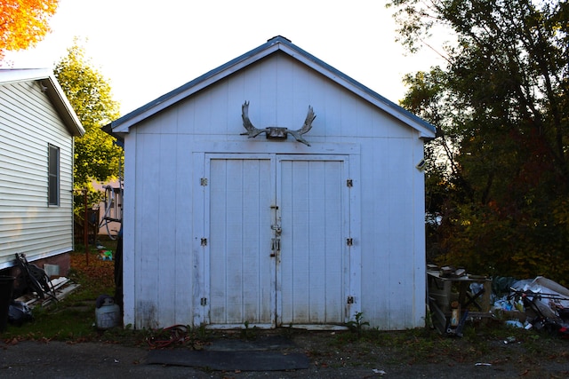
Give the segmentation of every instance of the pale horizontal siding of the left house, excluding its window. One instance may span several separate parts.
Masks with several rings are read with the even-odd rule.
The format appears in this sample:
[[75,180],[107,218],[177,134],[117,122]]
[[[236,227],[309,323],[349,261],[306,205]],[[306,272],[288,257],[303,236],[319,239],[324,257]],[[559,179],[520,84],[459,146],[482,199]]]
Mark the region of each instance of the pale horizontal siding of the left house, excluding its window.
[[[36,82],[0,85],[0,268],[73,249],[73,138]],[[47,198],[48,145],[60,148],[60,206]]]

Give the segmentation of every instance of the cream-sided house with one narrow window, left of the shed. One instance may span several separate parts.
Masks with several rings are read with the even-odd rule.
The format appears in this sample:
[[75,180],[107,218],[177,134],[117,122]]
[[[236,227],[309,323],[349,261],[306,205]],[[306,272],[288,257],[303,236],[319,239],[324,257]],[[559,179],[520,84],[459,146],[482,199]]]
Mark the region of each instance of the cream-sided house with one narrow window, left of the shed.
[[24,253],[69,268],[73,141],[84,128],[48,69],[0,69],[0,270]]

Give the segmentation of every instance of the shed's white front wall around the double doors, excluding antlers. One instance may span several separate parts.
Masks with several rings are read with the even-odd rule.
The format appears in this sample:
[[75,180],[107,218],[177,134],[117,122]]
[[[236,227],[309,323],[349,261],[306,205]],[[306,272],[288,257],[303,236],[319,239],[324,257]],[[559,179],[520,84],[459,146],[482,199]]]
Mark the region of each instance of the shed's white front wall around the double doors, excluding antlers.
[[[292,137],[241,136],[244,100],[250,101],[249,116],[257,128],[300,129],[309,105],[314,107],[317,119],[304,136],[312,146]],[[361,258],[361,278],[349,279],[357,291],[353,309],[363,312],[373,328],[421,326],[425,257],[424,183],[415,169],[422,158],[419,133],[281,53],[213,83],[125,135],[125,324],[156,328],[208,320],[200,304],[209,293],[203,273],[210,269],[200,245],[201,238],[210,237],[199,185],[204,154],[340,150],[359,154],[350,168],[359,193],[350,205],[352,249],[361,251],[353,261]]]

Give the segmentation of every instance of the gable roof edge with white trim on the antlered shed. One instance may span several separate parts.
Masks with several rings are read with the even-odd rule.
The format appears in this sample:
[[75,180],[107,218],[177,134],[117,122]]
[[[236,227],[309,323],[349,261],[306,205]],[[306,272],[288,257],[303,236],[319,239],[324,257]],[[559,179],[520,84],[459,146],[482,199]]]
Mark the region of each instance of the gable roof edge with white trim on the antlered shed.
[[276,51],[283,51],[293,59],[311,67],[321,75],[325,75],[325,77],[333,82],[340,84],[349,91],[352,91],[360,98],[369,101],[376,107],[381,108],[384,112],[392,115],[401,122],[404,122],[413,129],[418,130],[421,138],[435,137],[436,129],[429,122],[422,120],[420,117],[405,110],[403,107],[397,106],[397,104],[382,97],[379,93],[372,91],[364,84],[357,82],[348,75],[345,75],[341,71],[326,64],[324,61],[317,59],[315,56],[302,50],[283,36],[271,38],[267,43],[261,44],[256,49],[248,51],[236,59],[232,59],[226,64],[212,69],[204,75],[198,76],[191,82],[183,84],[179,88],[150,101],[147,105],[135,109],[129,114],[125,114],[116,121],[105,126],[104,130],[107,130],[113,135],[116,135],[116,133],[128,133],[129,128],[132,125],[145,120],[151,115],[162,111],[166,107],[172,106],[182,99],[186,99],[197,91],[203,90],[212,83],[216,83],[228,75],[263,59]]

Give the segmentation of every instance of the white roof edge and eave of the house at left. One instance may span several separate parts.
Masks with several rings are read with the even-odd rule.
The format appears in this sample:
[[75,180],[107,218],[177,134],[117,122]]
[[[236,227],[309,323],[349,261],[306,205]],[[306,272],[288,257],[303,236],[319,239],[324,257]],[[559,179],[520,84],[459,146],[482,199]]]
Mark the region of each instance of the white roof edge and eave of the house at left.
[[0,84],[21,82],[41,83],[47,97],[52,101],[53,107],[60,114],[69,134],[74,137],[84,135],[83,125],[51,70],[47,68],[0,69]]

